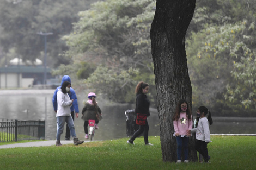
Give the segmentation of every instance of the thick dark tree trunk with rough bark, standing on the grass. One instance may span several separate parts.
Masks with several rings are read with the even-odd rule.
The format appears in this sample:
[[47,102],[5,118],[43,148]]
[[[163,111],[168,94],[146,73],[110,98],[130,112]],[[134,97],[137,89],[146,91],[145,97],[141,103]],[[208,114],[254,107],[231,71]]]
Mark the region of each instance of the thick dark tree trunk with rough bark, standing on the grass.
[[[150,37],[154,61],[163,161],[176,161],[173,115],[176,103],[186,99],[192,106],[185,35],[192,20],[196,0],[157,0]],[[192,107],[191,107],[192,109]],[[197,160],[195,137],[190,137],[189,158]]]

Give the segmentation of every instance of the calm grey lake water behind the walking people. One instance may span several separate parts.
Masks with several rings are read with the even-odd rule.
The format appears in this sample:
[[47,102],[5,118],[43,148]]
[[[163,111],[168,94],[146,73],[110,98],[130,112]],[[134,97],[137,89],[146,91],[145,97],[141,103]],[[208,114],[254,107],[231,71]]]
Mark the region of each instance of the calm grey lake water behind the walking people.
[[[45,139],[56,140],[56,114],[53,111],[52,96],[54,90],[0,90],[0,118],[21,120],[45,120]],[[81,111],[84,92],[76,92],[80,115],[75,118],[77,137],[84,139]],[[94,140],[112,140],[127,137],[125,111],[134,109],[131,104],[111,104],[98,99],[103,119],[96,130]],[[159,136],[160,126],[157,109],[150,109],[149,135]],[[256,118],[213,117],[214,124],[210,125],[211,134],[255,134]],[[65,130],[61,140],[65,139]]]

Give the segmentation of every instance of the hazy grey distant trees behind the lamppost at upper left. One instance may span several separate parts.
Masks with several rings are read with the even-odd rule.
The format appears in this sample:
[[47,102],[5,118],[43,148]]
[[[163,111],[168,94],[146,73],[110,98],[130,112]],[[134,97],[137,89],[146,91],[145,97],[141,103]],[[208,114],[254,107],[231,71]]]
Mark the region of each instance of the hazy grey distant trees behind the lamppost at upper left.
[[[69,64],[64,58],[67,49],[61,39],[72,30],[72,23],[78,20],[78,11],[90,7],[92,0],[59,1],[59,0],[2,0],[0,3],[0,46],[4,53],[14,50],[23,60],[41,57],[44,51],[44,38],[37,32],[52,32],[47,37],[47,66]],[[43,55],[42,55],[43,56]]]

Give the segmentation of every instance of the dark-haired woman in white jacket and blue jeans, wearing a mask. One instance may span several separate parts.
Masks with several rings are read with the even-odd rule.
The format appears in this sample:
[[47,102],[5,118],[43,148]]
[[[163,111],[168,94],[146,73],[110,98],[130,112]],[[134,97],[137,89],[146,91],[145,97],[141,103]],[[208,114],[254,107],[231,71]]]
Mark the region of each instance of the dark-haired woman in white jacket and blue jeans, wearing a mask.
[[73,103],[73,99],[70,100],[68,92],[70,91],[71,84],[69,81],[64,81],[61,89],[57,92],[58,109],[56,113],[57,118],[57,134],[56,134],[56,146],[61,146],[60,135],[63,133],[65,122],[68,124],[73,142],[75,145],[82,144],[83,141],[78,140],[75,132],[75,125],[70,114],[70,106]]

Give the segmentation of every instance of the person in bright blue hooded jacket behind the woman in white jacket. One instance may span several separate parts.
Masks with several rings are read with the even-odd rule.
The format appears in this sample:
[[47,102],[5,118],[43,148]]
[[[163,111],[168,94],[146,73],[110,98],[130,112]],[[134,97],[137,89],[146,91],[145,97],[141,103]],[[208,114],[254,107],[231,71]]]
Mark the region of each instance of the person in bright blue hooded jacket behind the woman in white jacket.
[[[69,75],[64,75],[63,78],[62,78],[62,83],[64,81],[69,81],[69,83],[71,84],[71,79],[69,77]],[[62,85],[62,84],[61,84]],[[52,104],[53,104],[53,108],[54,108],[54,111],[57,113],[57,109],[58,109],[58,106],[57,106],[57,92],[58,90],[62,87],[62,86],[59,86],[57,87],[57,89],[55,90],[54,94],[53,94],[53,97],[52,97]],[[76,118],[78,118],[78,113],[79,113],[79,109],[78,109],[78,104],[77,104],[77,97],[76,97],[76,92],[74,89],[72,89],[72,87],[70,87],[70,92],[68,93],[69,94],[69,97],[70,99],[74,99],[73,101],[73,105],[70,107],[70,110],[71,110],[71,116],[73,118],[73,121],[74,121],[74,109],[75,109],[75,112],[76,112]],[[69,126],[68,124],[66,125],[66,136],[65,136],[65,140],[70,140],[70,129],[69,129]]]

